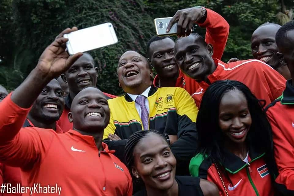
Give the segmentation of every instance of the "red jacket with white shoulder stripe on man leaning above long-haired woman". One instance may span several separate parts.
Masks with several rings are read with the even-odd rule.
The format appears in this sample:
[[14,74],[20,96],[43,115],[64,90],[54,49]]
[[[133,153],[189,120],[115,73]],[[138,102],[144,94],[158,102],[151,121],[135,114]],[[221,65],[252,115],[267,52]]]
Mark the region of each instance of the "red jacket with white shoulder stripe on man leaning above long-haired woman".
[[[285,89],[285,78],[268,64],[256,60],[243,60],[224,63],[216,58],[216,70],[208,76],[212,84],[218,80],[237,80],[247,85],[257,99],[265,100],[266,104],[277,99]],[[200,106],[201,98],[209,85],[202,81],[199,89],[192,95],[196,105]]]

